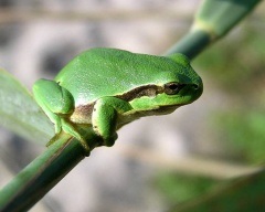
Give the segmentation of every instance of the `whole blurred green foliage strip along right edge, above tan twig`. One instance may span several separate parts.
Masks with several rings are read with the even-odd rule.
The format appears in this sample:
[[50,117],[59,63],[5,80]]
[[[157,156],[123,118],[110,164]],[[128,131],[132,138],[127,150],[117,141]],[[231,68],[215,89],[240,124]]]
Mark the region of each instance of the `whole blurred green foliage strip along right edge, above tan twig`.
[[218,140],[240,162],[262,163],[265,161],[265,40],[254,26],[242,31],[206,51],[199,65],[227,99],[226,109],[216,108],[211,114]]

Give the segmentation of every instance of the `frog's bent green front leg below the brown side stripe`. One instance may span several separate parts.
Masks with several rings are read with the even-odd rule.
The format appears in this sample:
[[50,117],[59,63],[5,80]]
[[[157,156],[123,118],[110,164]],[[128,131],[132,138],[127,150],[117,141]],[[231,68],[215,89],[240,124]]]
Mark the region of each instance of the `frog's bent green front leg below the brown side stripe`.
[[104,140],[104,146],[112,147],[117,139],[118,116],[131,110],[125,100],[116,97],[99,98],[93,108],[92,125],[94,131]]

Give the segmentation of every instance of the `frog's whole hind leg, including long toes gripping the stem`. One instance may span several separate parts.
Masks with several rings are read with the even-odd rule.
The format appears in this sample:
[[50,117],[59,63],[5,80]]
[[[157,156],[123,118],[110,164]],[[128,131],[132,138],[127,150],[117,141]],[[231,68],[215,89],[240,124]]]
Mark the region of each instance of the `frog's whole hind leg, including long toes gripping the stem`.
[[[88,151],[89,147],[75,127],[68,121],[68,116],[74,110],[74,98],[72,94],[54,81],[39,80],[33,85],[33,94],[38,104],[55,125],[55,134],[63,129],[65,132],[78,139]],[[55,138],[55,137],[54,137]],[[53,139],[47,144],[51,145]]]

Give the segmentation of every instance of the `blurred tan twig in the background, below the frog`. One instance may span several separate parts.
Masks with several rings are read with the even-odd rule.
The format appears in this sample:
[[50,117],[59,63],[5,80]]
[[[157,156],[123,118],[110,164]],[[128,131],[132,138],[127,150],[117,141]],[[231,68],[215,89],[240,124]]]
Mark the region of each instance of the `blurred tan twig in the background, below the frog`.
[[189,176],[201,176],[215,180],[227,180],[242,176],[253,174],[264,169],[263,167],[252,167],[245,165],[231,163],[229,161],[209,160],[200,157],[178,158],[167,156],[156,150],[142,149],[132,145],[117,148],[119,153],[141,163],[149,163],[161,169],[172,170]]

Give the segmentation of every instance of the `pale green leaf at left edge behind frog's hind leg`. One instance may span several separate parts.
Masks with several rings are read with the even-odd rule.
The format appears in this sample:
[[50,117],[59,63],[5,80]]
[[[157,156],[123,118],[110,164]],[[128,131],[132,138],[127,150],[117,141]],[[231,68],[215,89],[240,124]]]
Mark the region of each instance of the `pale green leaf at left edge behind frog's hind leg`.
[[28,140],[45,144],[54,135],[28,89],[4,70],[0,70],[0,125]]

